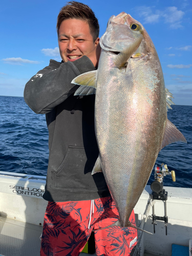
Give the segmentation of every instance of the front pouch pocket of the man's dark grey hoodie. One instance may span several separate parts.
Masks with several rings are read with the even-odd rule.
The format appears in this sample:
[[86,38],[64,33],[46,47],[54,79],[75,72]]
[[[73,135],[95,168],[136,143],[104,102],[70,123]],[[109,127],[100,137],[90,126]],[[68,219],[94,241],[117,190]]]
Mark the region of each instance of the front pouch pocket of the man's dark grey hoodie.
[[69,146],[65,158],[54,172],[55,186],[81,189],[96,186],[91,172],[97,157],[95,148]]

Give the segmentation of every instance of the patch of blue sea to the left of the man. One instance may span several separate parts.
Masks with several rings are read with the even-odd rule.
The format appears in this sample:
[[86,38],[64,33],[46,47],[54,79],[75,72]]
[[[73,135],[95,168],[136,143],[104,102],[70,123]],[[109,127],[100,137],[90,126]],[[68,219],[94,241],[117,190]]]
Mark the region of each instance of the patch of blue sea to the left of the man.
[[23,97],[0,96],[0,170],[46,175],[48,129],[45,115],[35,114]]

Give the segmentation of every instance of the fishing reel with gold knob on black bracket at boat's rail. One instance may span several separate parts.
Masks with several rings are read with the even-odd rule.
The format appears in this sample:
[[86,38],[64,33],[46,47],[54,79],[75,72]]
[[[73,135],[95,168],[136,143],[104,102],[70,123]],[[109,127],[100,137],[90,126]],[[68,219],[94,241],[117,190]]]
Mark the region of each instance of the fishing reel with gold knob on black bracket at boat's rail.
[[152,192],[152,199],[153,200],[161,200],[164,201],[164,217],[156,216],[155,215],[155,206],[152,207],[152,218],[154,224],[154,233],[155,233],[155,226],[157,225],[156,220],[164,221],[165,223],[165,233],[167,236],[167,225],[168,225],[168,217],[167,217],[167,207],[166,207],[166,200],[167,200],[167,191],[163,188],[163,179],[166,175],[172,175],[172,180],[176,181],[175,171],[172,170],[169,172],[167,165],[162,163],[161,166],[155,165],[155,181],[151,184]]

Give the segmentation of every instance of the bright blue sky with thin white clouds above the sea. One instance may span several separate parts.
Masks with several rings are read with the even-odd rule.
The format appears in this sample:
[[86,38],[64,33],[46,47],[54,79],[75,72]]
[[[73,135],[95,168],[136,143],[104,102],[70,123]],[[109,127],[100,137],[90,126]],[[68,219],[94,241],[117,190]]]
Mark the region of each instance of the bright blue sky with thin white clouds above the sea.
[[[23,96],[26,82],[60,61],[56,33],[59,10],[67,2],[51,0],[3,1],[0,8],[0,95]],[[111,15],[124,11],[151,36],[162,65],[165,87],[174,102],[192,105],[192,1],[84,0],[95,12],[100,36]]]

